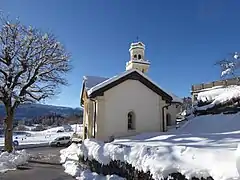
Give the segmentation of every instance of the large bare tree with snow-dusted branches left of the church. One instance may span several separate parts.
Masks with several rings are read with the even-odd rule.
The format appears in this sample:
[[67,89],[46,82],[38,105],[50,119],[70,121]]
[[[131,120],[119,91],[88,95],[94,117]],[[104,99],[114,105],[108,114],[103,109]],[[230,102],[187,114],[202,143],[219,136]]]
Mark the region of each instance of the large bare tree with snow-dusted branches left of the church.
[[0,15],[0,102],[5,106],[5,150],[12,151],[13,120],[21,103],[34,103],[67,85],[69,53],[51,33]]

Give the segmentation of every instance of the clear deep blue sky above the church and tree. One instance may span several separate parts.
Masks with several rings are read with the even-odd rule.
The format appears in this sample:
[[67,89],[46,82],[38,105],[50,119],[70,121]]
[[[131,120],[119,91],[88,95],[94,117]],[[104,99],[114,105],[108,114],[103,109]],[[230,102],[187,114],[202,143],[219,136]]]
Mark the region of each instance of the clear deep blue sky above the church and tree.
[[148,75],[164,89],[189,96],[191,84],[220,78],[217,60],[240,50],[240,1],[0,0],[0,9],[26,25],[53,32],[72,54],[69,87],[49,104],[79,107],[83,75],[125,70],[139,39]]

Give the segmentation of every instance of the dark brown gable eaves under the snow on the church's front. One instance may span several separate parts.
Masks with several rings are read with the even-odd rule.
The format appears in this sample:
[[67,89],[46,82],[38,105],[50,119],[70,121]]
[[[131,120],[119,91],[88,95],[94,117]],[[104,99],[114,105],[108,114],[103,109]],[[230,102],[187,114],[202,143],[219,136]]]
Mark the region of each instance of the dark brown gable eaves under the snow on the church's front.
[[172,101],[172,97],[170,95],[165,93],[162,89],[160,89],[158,86],[156,86],[155,84],[150,82],[148,79],[144,78],[142,75],[140,75],[136,71],[133,71],[133,72],[127,74],[126,76],[123,76],[123,77],[119,78],[118,80],[113,81],[112,83],[110,83],[110,84],[92,92],[90,94],[90,98],[94,98],[96,96],[103,96],[105,91],[107,91],[107,90],[119,85],[120,83],[122,83],[126,80],[129,80],[129,79],[140,81],[145,86],[147,86],[149,89],[151,89],[153,92],[155,92],[159,96],[162,96],[163,100],[166,100],[168,102]]

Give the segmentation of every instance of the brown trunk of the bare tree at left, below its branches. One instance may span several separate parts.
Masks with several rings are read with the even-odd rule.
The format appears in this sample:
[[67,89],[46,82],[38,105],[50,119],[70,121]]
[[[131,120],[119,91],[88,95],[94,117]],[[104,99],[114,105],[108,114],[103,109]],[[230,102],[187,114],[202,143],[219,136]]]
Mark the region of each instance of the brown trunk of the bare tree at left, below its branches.
[[14,112],[11,108],[6,107],[7,117],[5,118],[5,151],[12,152],[13,150],[13,116]]

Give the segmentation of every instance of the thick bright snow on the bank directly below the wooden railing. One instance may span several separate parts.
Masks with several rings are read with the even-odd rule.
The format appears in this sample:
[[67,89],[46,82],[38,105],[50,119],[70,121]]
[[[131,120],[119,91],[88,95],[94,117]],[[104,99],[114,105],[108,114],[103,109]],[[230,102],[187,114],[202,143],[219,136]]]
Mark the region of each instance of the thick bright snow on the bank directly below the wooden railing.
[[206,106],[197,107],[198,110],[206,110],[213,107],[214,105],[227,102],[233,98],[240,97],[240,86],[228,86],[228,87],[219,87],[212,88],[198,94],[198,101],[209,101],[212,103]]

